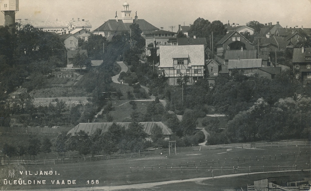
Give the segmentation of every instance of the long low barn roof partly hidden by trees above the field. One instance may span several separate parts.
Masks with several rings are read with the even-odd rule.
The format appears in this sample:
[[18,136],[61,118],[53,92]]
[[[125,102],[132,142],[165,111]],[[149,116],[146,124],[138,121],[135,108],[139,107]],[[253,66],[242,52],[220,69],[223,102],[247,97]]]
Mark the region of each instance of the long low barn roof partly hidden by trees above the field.
[[[93,134],[96,129],[101,129],[102,133],[108,131],[109,127],[112,126],[113,123],[79,123],[76,127],[73,127],[68,133],[71,133],[71,135],[75,135],[80,130],[88,133],[89,135]],[[127,129],[131,122],[118,122],[117,125],[125,127]],[[163,135],[172,135],[173,132],[162,122],[140,122],[144,126],[144,131],[151,135],[151,131],[153,127],[156,125],[162,129]]]

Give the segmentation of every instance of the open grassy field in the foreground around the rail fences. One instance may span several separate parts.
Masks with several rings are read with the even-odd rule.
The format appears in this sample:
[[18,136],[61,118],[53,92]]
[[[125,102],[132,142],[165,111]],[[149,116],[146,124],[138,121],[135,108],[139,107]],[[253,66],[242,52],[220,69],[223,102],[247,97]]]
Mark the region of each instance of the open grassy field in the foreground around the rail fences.
[[[46,180],[45,185],[3,185],[1,182],[1,190],[3,189],[62,189],[62,188],[78,188],[78,187],[91,187],[90,184],[87,184],[87,180],[98,180],[99,184],[93,186],[114,186],[114,185],[127,185],[127,184],[140,184],[140,183],[150,183],[150,182],[160,182],[168,180],[183,180],[191,178],[200,178],[200,177],[211,177],[211,172],[208,170],[204,171],[192,171],[192,172],[170,172],[170,170],[152,170],[146,171],[133,171],[130,172],[130,167],[144,167],[144,166],[157,166],[157,165],[178,165],[178,163],[187,163],[196,161],[199,165],[199,161],[205,160],[218,160],[223,158],[247,158],[249,156],[262,156],[262,155],[278,155],[286,154],[301,151],[310,151],[310,147],[280,147],[280,148],[265,148],[262,150],[255,149],[233,149],[231,151],[223,150],[203,150],[203,151],[189,151],[177,153],[177,155],[168,156],[167,153],[159,156],[152,157],[141,157],[141,158],[127,158],[127,159],[117,159],[117,160],[104,160],[104,161],[92,161],[92,162],[80,162],[80,163],[69,163],[61,165],[22,165],[15,168],[22,170],[28,170],[30,172],[39,171],[39,170],[53,170],[53,175],[20,175],[16,178],[21,178],[23,180]],[[295,157],[283,157],[282,159],[277,160],[258,160],[258,161],[241,161],[241,162],[227,162],[226,164],[217,164],[212,165],[213,167],[217,166],[277,166],[277,165],[305,165],[310,164],[310,154],[301,155]],[[203,165],[202,165],[203,166]],[[211,166],[209,164],[209,166]],[[4,174],[8,172],[8,166],[2,168],[0,174],[0,179],[7,178]],[[12,169],[13,166],[11,165]],[[57,175],[55,175],[57,171]],[[35,172],[34,172],[35,173]],[[214,176],[220,176],[225,174],[232,174],[234,172],[214,172]],[[241,172],[240,172],[241,173]],[[59,175],[58,175],[59,174]],[[303,176],[310,177],[310,174]],[[262,177],[269,177],[272,175],[262,175]],[[274,175],[273,175],[274,176]],[[295,176],[297,178],[297,176]],[[14,178],[12,178],[14,179]],[[178,185],[165,185],[156,188],[156,190],[193,190],[191,188],[196,188],[195,190],[221,190],[224,186],[227,188],[234,187],[243,187],[245,184],[252,184],[254,179],[260,179],[259,176],[246,177],[246,178],[235,178],[235,179],[226,179],[225,182],[230,184],[223,184],[223,181],[214,180],[215,182],[203,181],[200,183],[182,183]],[[55,185],[51,183],[51,180],[76,180],[76,184],[67,185]],[[206,187],[209,186],[209,187]],[[205,188],[205,189],[204,189]],[[212,189],[207,189],[212,188]],[[217,189],[214,189],[217,188]],[[218,189],[219,188],[219,189]],[[153,188],[155,189],[155,188]],[[232,188],[231,188],[232,189]]]

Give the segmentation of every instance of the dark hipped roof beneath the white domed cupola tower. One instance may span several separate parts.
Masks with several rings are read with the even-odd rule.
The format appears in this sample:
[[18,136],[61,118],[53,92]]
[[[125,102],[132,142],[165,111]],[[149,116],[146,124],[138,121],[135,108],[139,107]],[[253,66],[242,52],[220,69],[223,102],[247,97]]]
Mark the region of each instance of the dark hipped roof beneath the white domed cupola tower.
[[[151,25],[149,22],[145,21],[144,19],[137,19],[133,20],[134,23],[139,25],[139,28],[142,31],[156,31],[159,30],[159,28]],[[132,23],[123,23],[122,20],[118,20],[118,22],[115,19],[109,19],[104,24],[102,24],[100,27],[94,30],[96,31],[130,31],[130,25]]]

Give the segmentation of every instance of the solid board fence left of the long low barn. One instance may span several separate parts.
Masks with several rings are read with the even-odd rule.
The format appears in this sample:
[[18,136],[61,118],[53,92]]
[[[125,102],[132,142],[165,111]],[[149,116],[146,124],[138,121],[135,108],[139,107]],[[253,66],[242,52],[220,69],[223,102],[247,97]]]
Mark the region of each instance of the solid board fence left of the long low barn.
[[72,127],[0,127],[0,132],[58,134],[60,132],[67,132],[70,129],[72,129]]

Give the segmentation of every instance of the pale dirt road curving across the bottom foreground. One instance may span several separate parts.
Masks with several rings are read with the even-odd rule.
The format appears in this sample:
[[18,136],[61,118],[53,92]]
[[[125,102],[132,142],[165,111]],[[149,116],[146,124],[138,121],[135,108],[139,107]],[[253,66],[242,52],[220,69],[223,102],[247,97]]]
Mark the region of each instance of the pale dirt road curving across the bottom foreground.
[[[301,171],[301,170],[281,170],[281,171],[269,171],[269,172],[227,174],[227,175],[221,175],[221,176],[214,176],[214,179],[244,176],[244,175],[248,175],[248,174],[264,174],[264,173],[272,173],[272,172],[294,172],[294,171]],[[304,170],[304,171],[310,171],[310,170]],[[170,180],[170,181],[163,181],[163,182],[120,185],[120,186],[99,186],[99,187],[93,187],[93,188],[68,188],[68,189],[53,189],[53,190],[66,190],[66,191],[75,191],[75,190],[84,190],[84,191],[86,191],[86,190],[123,190],[123,189],[136,189],[137,190],[137,189],[152,188],[152,187],[160,186],[160,185],[164,185],[164,184],[174,184],[174,183],[181,183],[181,182],[197,182],[197,181],[203,181],[203,180],[208,180],[208,179],[213,179],[213,177],[194,178],[194,179],[185,179],[185,180]]]

